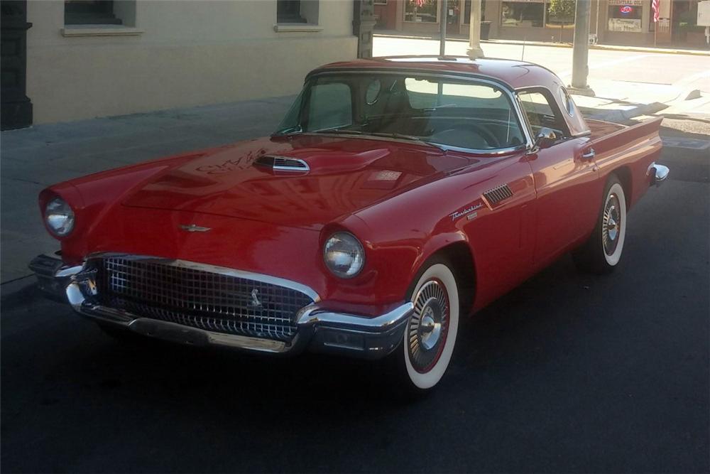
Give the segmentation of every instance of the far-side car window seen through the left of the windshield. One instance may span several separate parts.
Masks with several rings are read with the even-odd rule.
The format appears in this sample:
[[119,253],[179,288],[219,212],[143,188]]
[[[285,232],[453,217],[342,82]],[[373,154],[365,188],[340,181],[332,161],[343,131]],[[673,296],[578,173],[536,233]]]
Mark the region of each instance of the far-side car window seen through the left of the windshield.
[[318,84],[311,88],[308,130],[334,129],[353,120],[350,87],[342,82]]

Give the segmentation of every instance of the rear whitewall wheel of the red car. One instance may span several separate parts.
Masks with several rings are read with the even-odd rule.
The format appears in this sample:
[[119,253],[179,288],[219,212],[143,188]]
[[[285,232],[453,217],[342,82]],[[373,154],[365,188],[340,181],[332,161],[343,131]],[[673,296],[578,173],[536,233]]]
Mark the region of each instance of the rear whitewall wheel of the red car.
[[611,175],[596,227],[589,240],[575,252],[574,262],[584,271],[604,274],[616,268],[626,239],[626,195],[621,181]]

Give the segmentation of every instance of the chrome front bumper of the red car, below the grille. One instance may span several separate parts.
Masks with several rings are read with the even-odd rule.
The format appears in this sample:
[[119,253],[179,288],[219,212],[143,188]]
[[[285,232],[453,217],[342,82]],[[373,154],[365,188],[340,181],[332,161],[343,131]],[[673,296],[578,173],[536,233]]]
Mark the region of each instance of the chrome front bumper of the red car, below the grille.
[[141,335],[188,345],[214,345],[274,354],[312,350],[379,359],[399,345],[414,311],[413,303],[406,302],[389,313],[366,318],[334,313],[313,304],[298,311],[295,316],[297,333],[287,343],[192,328],[102,306],[94,298],[97,295],[94,271],[85,271],[83,266],[64,266],[60,259],[48,255],[35,257],[29,266],[45,296],[70,303],[82,316]]

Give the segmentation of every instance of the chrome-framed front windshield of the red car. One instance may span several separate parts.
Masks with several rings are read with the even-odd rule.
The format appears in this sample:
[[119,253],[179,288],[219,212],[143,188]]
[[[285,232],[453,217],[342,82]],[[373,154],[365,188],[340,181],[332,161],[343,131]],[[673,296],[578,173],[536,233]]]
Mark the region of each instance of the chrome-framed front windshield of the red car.
[[508,95],[495,85],[417,75],[312,77],[275,135],[361,134],[475,150],[525,142]]

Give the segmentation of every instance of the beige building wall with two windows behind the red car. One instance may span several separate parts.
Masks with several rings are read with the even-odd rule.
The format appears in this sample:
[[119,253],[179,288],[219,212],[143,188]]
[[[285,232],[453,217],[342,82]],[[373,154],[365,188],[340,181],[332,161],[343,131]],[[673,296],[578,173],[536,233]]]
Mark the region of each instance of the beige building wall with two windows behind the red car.
[[26,21],[35,124],[294,94],[357,50],[342,0],[30,0]]

